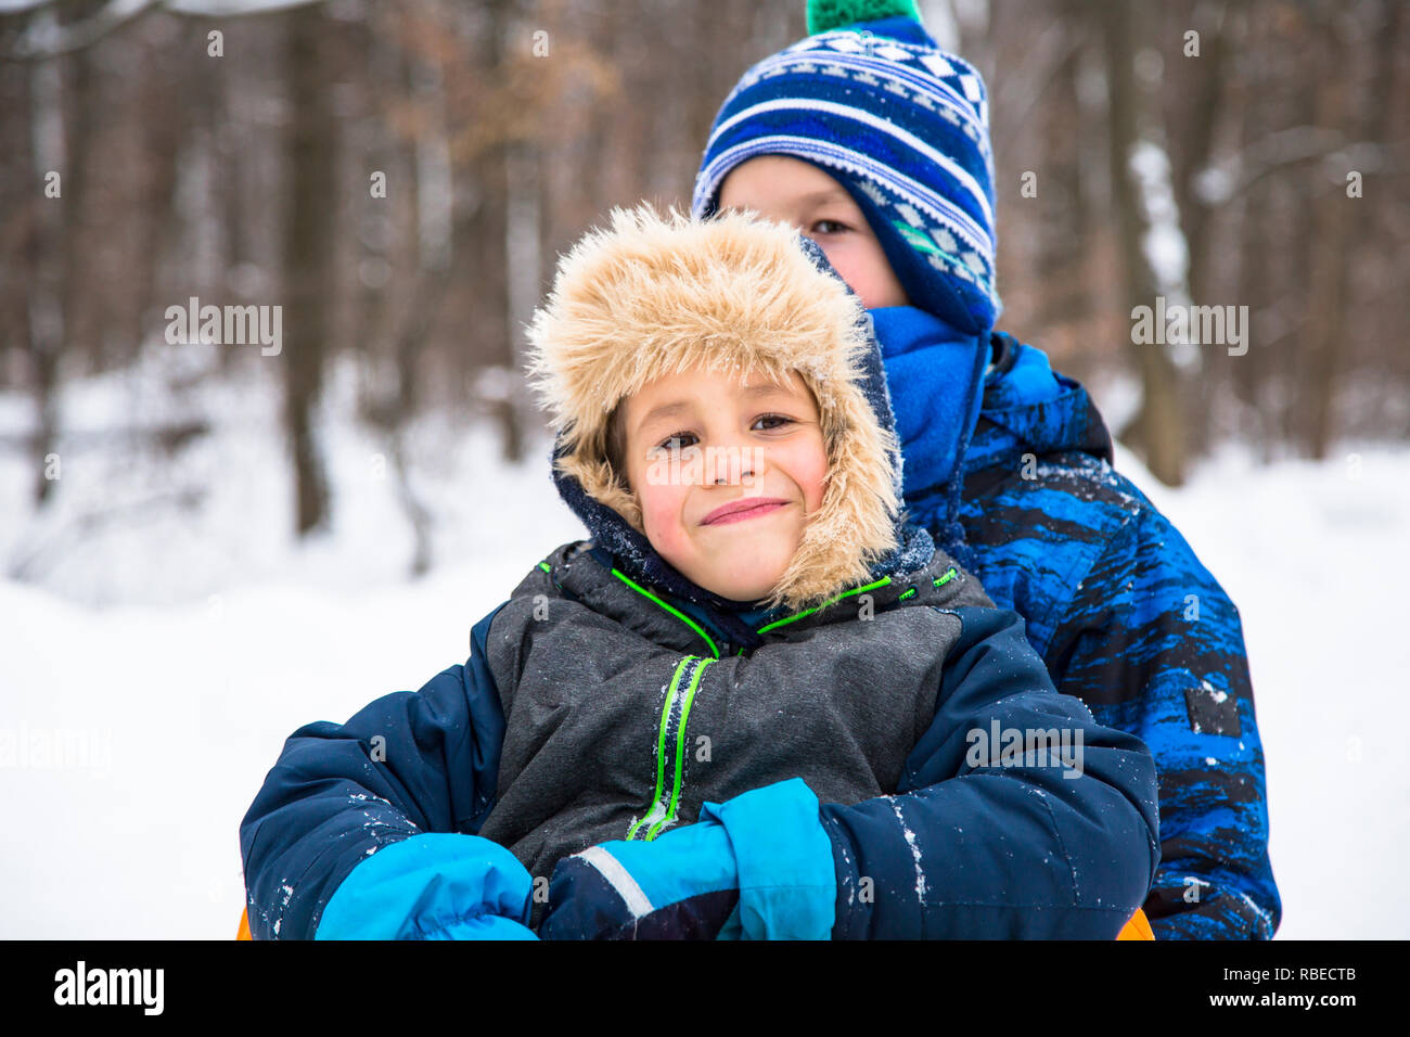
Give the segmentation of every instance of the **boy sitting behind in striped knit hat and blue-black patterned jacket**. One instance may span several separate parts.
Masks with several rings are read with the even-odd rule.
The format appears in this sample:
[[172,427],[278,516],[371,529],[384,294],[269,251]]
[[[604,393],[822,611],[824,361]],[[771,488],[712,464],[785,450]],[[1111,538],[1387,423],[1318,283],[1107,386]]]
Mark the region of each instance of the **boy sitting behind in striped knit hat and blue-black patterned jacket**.
[[1086,391],[994,330],[983,80],[911,0],[811,0],[808,31],[726,97],[692,213],[750,209],[823,248],[874,319],[909,515],[1024,617],[1059,691],[1151,746],[1156,937],[1272,937],[1282,904],[1238,611],[1111,468]]

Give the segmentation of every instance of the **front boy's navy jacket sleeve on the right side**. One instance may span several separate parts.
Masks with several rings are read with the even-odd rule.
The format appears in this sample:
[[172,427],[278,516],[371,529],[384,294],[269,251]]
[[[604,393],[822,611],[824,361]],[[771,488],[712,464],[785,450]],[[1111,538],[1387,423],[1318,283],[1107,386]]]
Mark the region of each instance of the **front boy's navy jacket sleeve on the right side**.
[[962,635],[900,794],[821,810],[833,938],[1112,940],[1159,859],[1151,753],[1055,693],[1015,612],[953,614]]

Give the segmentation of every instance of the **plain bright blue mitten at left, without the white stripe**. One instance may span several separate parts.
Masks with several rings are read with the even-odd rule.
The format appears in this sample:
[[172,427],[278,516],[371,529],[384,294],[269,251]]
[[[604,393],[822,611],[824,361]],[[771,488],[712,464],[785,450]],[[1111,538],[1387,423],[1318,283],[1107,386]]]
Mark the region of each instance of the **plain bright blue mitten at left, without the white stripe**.
[[314,940],[537,940],[533,878],[498,842],[423,832],[384,847],[333,893]]

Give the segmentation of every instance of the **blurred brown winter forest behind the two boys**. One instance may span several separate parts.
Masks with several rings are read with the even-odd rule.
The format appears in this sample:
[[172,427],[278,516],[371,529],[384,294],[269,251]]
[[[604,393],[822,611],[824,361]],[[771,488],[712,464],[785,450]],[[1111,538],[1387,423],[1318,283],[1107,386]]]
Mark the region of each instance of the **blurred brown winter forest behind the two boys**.
[[[1000,326],[1112,387],[1152,473],[1410,437],[1410,4],[919,7],[988,83]],[[536,450],[522,330],[556,257],[613,205],[688,209],[718,106],[802,35],[802,0],[0,0],[0,450],[28,473],[4,509],[42,515],[70,456],[179,459],[213,435],[200,401],[258,372],[268,487],[324,528],[343,368],[422,529],[406,430]],[[1138,343],[1158,296],[1246,306],[1244,346]],[[281,347],[173,358],[193,298],[282,308]],[[94,377],[185,405],[65,404]]]

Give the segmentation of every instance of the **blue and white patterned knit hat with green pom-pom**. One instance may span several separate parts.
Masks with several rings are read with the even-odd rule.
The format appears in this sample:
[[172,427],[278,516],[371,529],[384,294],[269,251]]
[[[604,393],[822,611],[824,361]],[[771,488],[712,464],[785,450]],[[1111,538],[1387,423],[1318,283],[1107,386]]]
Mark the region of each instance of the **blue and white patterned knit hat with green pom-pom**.
[[713,214],[725,176],[756,155],[812,162],[856,200],[912,305],[987,336],[1001,302],[983,79],[912,0],[811,0],[808,31],[725,99],[691,212]]

